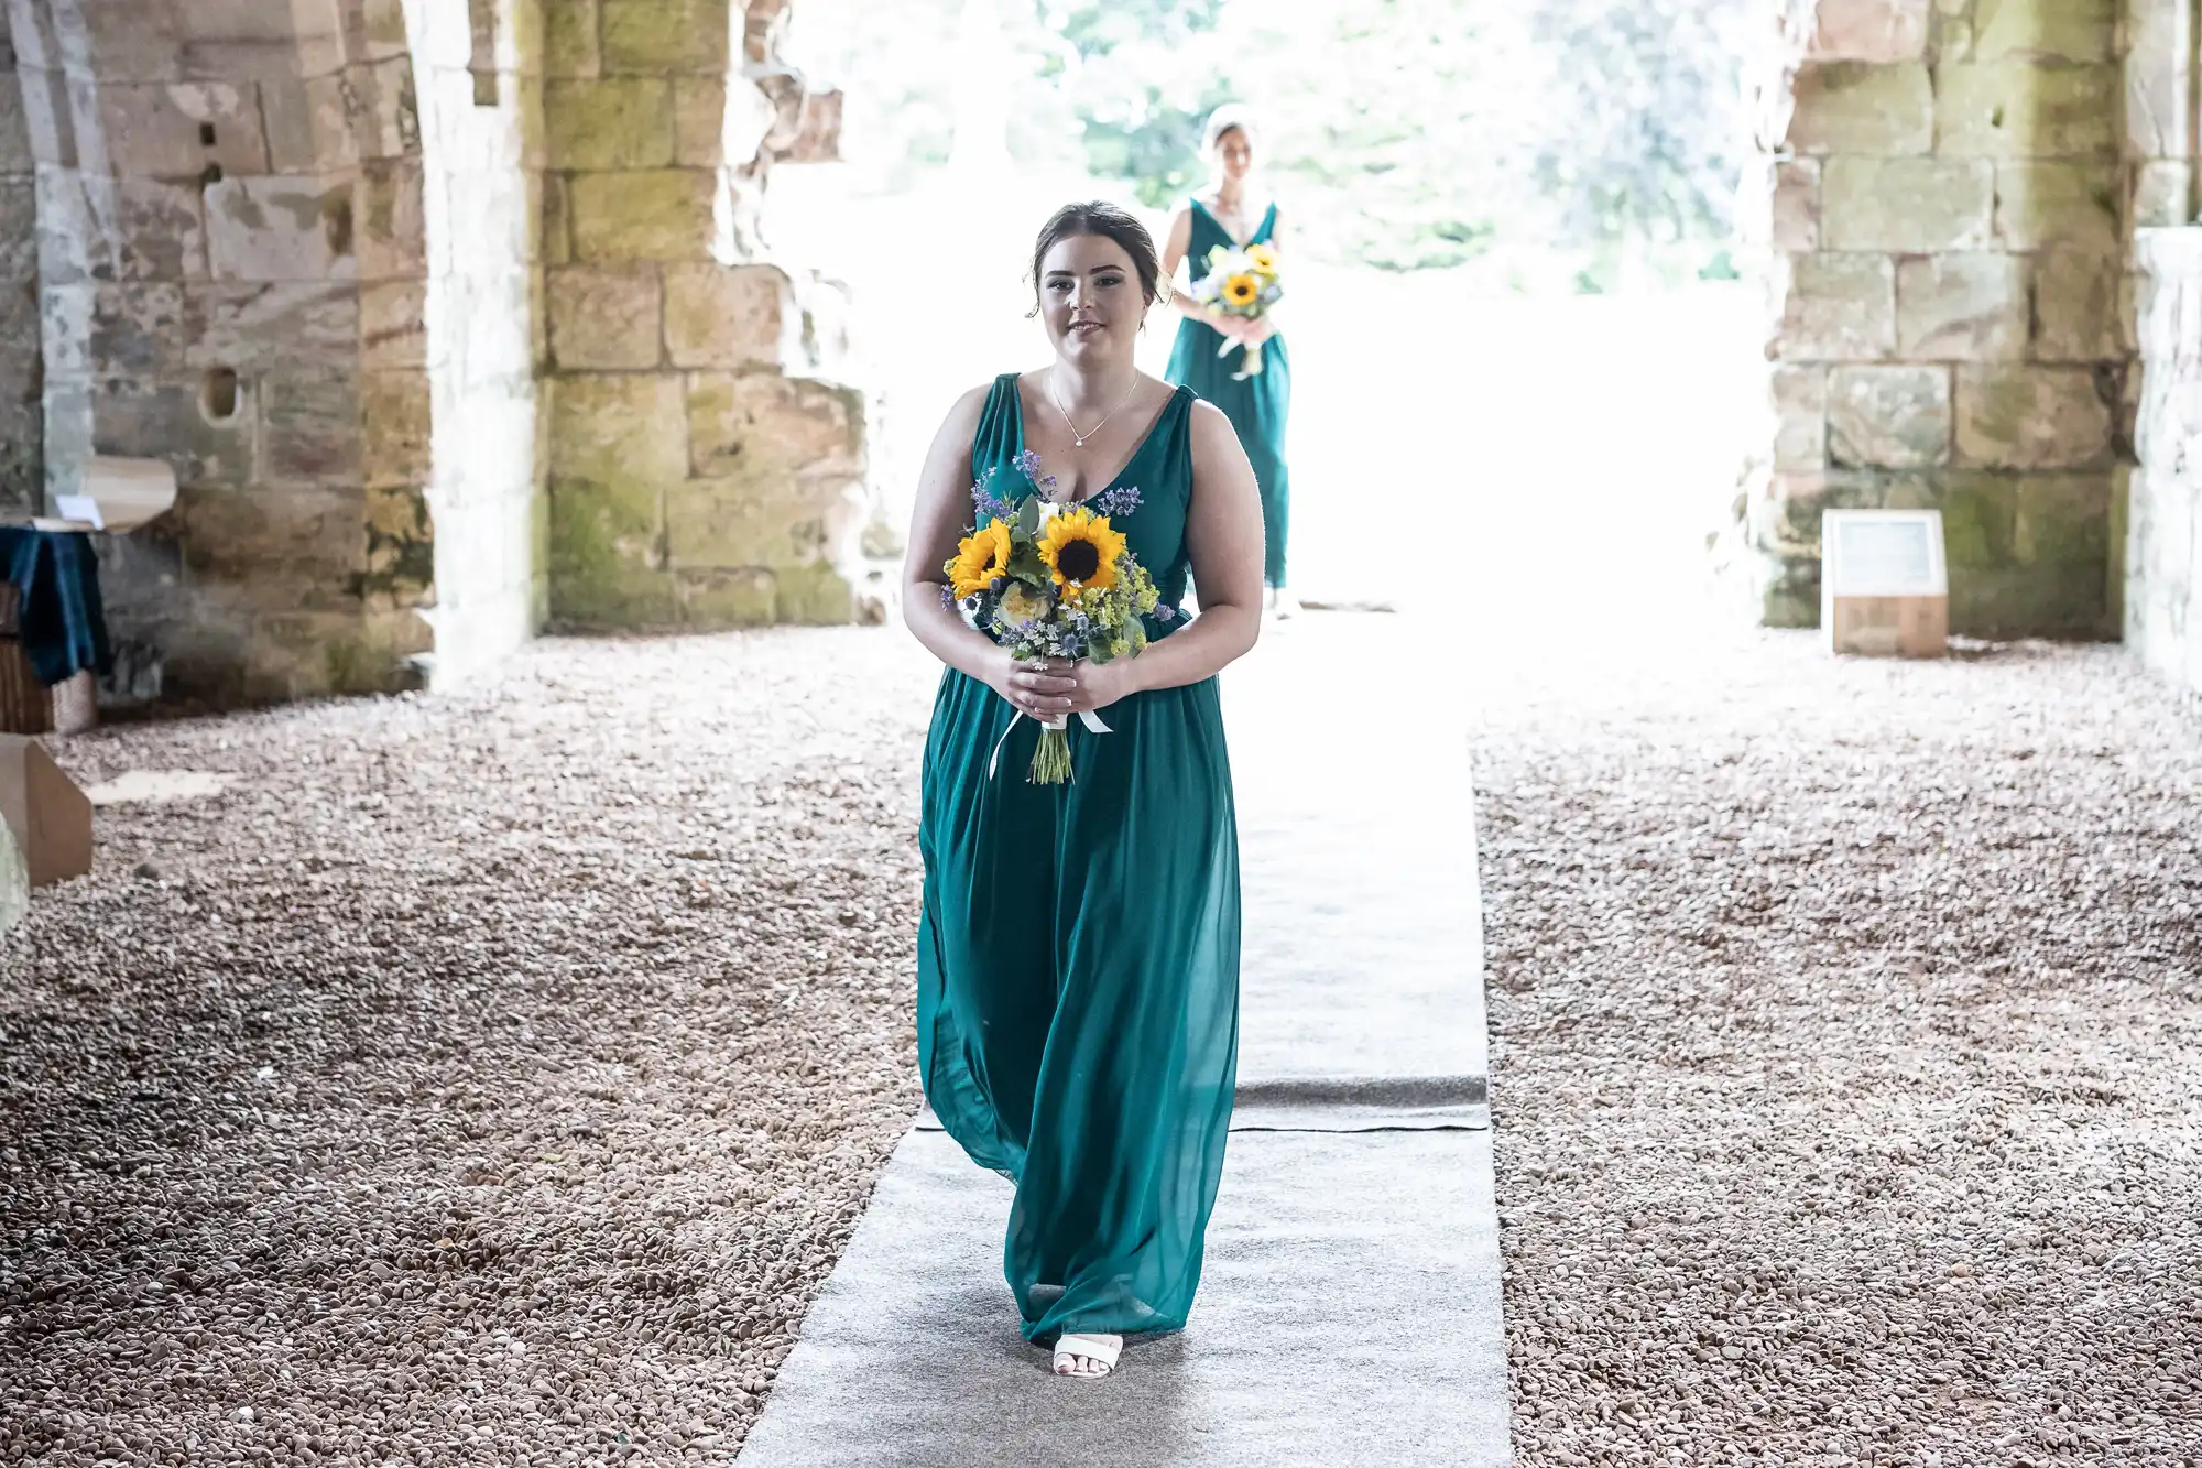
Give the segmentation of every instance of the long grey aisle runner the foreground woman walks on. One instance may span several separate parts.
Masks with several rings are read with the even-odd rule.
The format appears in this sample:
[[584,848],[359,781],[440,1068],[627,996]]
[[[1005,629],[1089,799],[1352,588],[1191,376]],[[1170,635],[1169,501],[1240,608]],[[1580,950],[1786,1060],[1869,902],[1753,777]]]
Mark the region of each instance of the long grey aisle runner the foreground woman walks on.
[[1009,1184],[920,1118],[742,1468],[1508,1461],[1464,723],[1411,626],[1310,615],[1224,677],[1240,1111],[1189,1329],[1048,1375],[1002,1283]]

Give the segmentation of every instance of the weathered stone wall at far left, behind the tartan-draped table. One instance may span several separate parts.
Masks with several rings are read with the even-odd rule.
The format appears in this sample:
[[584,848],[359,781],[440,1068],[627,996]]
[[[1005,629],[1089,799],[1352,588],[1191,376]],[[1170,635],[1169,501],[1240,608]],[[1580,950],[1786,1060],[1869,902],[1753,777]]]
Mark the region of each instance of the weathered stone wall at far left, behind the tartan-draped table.
[[396,0],[9,0],[37,165],[46,489],[167,458],[103,549],[119,639],[214,701],[392,688],[427,646],[425,381],[363,373],[423,276]]

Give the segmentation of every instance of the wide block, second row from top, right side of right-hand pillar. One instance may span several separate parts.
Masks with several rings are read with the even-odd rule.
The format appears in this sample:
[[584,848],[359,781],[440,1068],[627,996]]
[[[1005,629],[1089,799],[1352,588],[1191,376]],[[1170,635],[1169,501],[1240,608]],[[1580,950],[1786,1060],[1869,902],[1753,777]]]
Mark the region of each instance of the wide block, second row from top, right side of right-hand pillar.
[[1936,71],[1933,150],[1966,159],[2112,154],[2116,66],[1958,62]]

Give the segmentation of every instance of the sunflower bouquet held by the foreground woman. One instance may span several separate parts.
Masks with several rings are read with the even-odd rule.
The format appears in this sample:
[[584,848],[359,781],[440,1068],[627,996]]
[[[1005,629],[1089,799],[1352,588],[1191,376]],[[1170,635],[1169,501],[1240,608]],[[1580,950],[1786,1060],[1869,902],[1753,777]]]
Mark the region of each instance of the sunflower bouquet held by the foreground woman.
[[[971,485],[973,527],[945,571],[945,595],[964,622],[1009,648],[1011,657],[1108,663],[1136,657],[1147,646],[1145,613],[1160,600],[1154,578],[1125,544],[1110,518],[1138,509],[1138,489],[1099,494],[1088,505],[1048,498],[1055,476],[1039,476],[1039,454],[1017,454],[1015,467],[1031,492],[1015,505],[986,487],[993,469]],[[1167,615],[1167,613],[1158,613]],[[1017,719],[1024,714],[1020,712]],[[1094,734],[1108,725],[1079,714]],[[1015,727],[1011,719],[1011,727]],[[1039,727],[1033,749],[1035,785],[1070,780],[1070,721]],[[1009,738],[1009,732],[1002,732]],[[1000,754],[1000,745],[995,745]],[[989,765],[991,769],[991,765]]]

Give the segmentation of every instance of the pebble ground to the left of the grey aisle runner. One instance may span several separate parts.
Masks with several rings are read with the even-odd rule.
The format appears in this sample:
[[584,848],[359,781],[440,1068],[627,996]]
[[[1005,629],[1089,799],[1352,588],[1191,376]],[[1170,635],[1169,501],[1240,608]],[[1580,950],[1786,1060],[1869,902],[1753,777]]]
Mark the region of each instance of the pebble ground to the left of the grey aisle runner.
[[727,1461],[918,1095],[883,633],[64,743],[0,939],[0,1461]]

